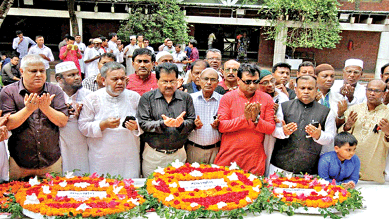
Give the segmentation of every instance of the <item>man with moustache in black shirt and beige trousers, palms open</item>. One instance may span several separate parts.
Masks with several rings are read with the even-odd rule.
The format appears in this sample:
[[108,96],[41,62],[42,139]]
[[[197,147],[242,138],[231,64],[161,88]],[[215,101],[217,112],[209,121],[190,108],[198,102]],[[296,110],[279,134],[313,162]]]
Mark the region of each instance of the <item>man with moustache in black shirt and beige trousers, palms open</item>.
[[178,69],[173,63],[156,68],[158,89],[148,91],[139,100],[137,118],[144,131],[143,177],[156,167],[165,167],[176,159],[186,161],[184,144],[195,128],[195,108],[190,94],[177,90]]

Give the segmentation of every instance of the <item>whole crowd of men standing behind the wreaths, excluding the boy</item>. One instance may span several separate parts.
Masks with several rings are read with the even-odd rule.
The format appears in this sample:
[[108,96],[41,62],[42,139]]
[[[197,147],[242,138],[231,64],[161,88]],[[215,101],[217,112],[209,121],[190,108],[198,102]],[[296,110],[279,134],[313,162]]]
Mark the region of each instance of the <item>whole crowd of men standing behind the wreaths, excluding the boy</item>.
[[343,80],[330,64],[303,62],[294,81],[286,63],[272,72],[222,64],[217,49],[199,59],[195,40],[183,53],[168,38],[155,54],[141,35],[124,47],[110,33],[88,45],[67,36],[54,85],[46,81],[52,54],[43,37],[27,52],[18,45],[29,38],[21,37],[14,39],[20,56],[3,66],[14,75],[21,58],[20,75],[0,92],[0,141],[5,151],[8,139],[10,153],[0,162],[10,179],[73,169],[139,178],[176,159],[236,162],[256,175],[318,174],[320,155],[346,131],[358,142],[360,179],[389,180],[389,63],[367,87],[359,84],[359,59],[346,60]]

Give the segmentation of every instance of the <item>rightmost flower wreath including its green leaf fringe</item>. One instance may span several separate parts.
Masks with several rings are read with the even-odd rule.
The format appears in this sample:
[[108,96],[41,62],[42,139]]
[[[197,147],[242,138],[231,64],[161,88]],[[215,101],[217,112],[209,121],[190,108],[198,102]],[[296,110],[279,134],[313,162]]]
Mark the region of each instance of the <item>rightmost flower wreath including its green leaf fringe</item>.
[[[266,187],[272,188],[272,194],[278,198],[278,204],[287,205],[279,209],[288,209],[290,207],[298,209],[302,207],[305,211],[308,208],[311,212],[329,215],[331,218],[339,218],[334,213],[340,212],[343,216],[349,214],[349,209],[354,210],[362,207],[362,198],[360,192],[355,189],[345,189],[341,185],[336,185],[336,181],[331,183],[320,178],[314,178],[305,174],[302,177],[293,174],[285,177],[274,173],[269,178],[264,179]],[[293,215],[293,212],[287,212]],[[304,213],[301,211],[301,213]]]

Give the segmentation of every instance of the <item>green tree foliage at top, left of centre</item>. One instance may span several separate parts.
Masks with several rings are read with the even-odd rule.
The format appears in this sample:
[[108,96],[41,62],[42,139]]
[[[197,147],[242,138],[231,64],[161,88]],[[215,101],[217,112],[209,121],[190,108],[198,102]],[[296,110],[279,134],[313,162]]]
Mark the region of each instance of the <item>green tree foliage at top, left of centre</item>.
[[189,40],[188,23],[176,0],[135,0],[130,12],[118,31],[124,41],[138,34],[148,38],[150,44],[162,43],[167,37],[174,43]]

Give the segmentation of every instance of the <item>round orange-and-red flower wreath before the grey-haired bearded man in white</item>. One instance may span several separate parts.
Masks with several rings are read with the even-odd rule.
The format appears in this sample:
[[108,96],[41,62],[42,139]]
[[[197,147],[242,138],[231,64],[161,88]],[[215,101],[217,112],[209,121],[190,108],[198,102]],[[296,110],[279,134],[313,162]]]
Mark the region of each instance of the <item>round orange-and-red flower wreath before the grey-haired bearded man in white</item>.
[[30,179],[15,197],[23,209],[40,215],[102,217],[125,213],[144,202],[132,183],[131,179],[106,179],[96,173],[74,177],[71,172],[43,182]]

